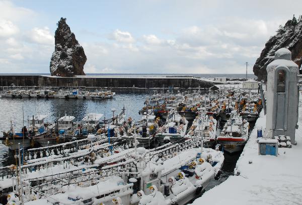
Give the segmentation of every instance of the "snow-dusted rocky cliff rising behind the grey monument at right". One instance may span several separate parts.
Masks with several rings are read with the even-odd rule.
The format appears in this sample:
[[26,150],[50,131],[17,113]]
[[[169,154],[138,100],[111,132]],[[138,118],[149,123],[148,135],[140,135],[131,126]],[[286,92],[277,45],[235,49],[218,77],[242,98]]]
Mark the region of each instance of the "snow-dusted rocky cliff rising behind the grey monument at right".
[[288,20],[284,27],[280,26],[277,34],[271,37],[265,44],[260,57],[256,60],[253,67],[254,74],[258,76],[258,80],[267,78],[266,66],[273,59],[266,59],[267,56],[274,56],[279,48],[287,48],[291,51],[292,60],[299,66],[302,64],[302,19],[298,20],[293,17]]

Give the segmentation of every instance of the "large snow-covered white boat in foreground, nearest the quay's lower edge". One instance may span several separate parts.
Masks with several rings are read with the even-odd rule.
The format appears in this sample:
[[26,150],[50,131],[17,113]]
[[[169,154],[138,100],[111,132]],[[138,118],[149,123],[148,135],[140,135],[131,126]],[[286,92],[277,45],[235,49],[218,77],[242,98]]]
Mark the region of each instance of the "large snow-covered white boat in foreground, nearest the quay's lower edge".
[[[223,154],[219,151],[207,149],[200,153],[200,149],[186,149],[177,151],[178,147],[169,147],[158,151],[154,160],[139,163],[140,191],[137,196],[139,204],[187,204],[199,197],[211,179],[216,178],[223,164]],[[167,152],[167,153],[166,153]],[[144,154],[140,153],[139,154]],[[152,153],[150,153],[152,154]],[[216,178],[217,179],[217,178]]]

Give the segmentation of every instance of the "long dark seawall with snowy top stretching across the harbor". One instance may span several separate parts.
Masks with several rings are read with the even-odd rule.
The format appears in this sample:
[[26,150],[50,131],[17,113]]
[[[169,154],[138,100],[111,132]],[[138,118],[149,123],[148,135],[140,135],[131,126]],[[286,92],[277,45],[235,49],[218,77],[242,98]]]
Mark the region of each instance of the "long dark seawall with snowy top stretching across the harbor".
[[[214,85],[211,81],[194,77],[53,77],[45,75],[0,75],[0,86],[54,86],[54,87],[200,87],[209,88]],[[218,83],[215,83],[218,84]]]

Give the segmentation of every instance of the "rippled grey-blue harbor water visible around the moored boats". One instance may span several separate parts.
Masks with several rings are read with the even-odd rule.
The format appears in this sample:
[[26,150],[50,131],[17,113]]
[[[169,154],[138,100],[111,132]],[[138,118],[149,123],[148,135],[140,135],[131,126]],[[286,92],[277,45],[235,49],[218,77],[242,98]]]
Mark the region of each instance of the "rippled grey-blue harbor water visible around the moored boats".
[[[11,122],[16,132],[21,132],[23,126],[28,126],[28,119],[34,114],[47,115],[46,122],[54,122],[58,116],[71,115],[75,121],[80,121],[88,113],[101,113],[106,117],[112,117],[111,109],[116,109],[115,115],[125,107],[126,118],[139,120],[139,109],[144,106],[148,94],[117,94],[110,99],[60,99],[60,98],[0,98],[1,118],[0,132],[8,131]],[[24,119],[24,121],[23,121]],[[224,123],[218,121],[216,135],[219,135]],[[253,125],[251,125],[251,130]],[[250,132],[251,132],[250,130]],[[224,153],[222,172],[218,180],[212,180],[206,190],[226,180],[233,174],[239,153]],[[13,164],[14,154],[8,147],[0,143],[0,166]]]

